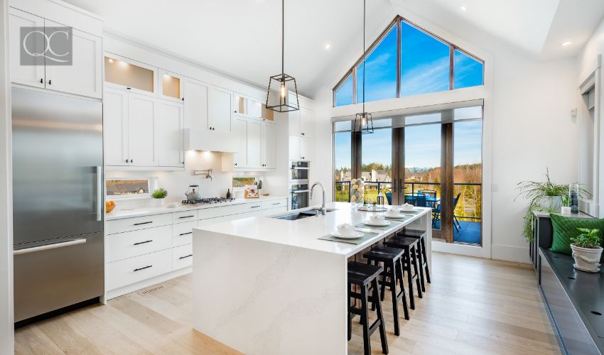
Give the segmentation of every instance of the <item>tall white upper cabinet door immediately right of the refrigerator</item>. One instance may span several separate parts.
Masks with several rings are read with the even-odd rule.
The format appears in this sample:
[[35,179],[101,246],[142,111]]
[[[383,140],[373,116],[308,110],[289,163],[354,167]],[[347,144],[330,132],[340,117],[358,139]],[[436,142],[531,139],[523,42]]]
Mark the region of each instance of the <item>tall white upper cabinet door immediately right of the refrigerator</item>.
[[103,98],[105,165],[128,165],[128,93],[105,89]]

